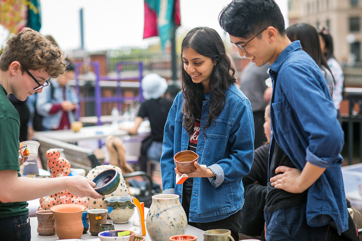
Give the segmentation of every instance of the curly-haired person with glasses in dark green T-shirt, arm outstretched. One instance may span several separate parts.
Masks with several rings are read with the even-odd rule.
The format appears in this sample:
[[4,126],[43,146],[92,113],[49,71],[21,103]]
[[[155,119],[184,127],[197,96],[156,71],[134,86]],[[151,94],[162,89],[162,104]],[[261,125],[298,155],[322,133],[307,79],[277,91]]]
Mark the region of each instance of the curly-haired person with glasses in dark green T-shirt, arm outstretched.
[[81,176],[27,178],[20,176],[20,117],[7,99],[14,94],[21,101],[49,85],[65,70],[64,56],[45,36],[24,28],[7,41],[0,56],[0,239],[29,241],[30,222],[26,201],[69,190],[80,197],[102,198],[94,182]]

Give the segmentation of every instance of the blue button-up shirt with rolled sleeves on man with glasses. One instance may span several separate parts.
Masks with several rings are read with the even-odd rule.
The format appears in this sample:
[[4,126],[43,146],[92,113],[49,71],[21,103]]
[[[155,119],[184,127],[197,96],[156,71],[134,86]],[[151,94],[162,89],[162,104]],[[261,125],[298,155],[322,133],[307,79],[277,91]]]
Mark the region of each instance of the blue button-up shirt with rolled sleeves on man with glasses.
[[[308,190],[307,222],[319,227],[333,219],[340,234],[348,228],[340,155],[344,133],[323,74],[299,40],[282,51],[269,74],[271,146],[277,141],[300,171],[306,162],[327,168]],[[272,154],[271,147],[269,162]]]

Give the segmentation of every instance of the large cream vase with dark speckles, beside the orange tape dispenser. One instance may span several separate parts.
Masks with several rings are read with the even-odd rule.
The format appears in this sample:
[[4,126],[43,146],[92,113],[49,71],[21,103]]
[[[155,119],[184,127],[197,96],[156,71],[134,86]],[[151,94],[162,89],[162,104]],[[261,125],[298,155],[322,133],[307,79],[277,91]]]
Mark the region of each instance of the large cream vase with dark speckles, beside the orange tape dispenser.
[[169,241],[171,236],[184,234],[187,218],[179,196],[158,194],[152,196],[152,204],[146,219],[147,231],[152,241]]

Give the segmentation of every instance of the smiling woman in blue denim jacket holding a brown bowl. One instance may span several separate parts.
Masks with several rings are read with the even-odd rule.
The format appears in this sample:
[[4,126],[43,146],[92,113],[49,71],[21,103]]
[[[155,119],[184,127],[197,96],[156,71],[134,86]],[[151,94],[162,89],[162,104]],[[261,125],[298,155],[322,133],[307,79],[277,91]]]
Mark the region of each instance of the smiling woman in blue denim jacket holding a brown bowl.
[[[241,228],[244,188],[241,178],[253,161],[254,125],[249,100],[236,86],[219,34],[196,27],[182,41],[180,77],[164,130],[161,173],[163,193],[180,195],[190,225],[207,230]],[[173,156],[182,150],[199,155],[197,168],[177,185]],[[206,167],[201,166],[206,165]]]

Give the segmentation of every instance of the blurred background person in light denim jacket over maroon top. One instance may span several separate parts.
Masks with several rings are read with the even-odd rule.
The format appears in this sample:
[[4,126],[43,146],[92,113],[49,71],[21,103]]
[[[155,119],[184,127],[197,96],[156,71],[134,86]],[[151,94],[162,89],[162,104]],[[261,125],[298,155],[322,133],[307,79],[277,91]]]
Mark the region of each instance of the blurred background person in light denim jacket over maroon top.
[[75,65],[66,60],[66,72],[50,80],[50,88],[37,94],[36,110],[43,116],[43,130],[70,129],[76,120],[75,112],[79,104],[75,89],[68,85],[75,76]]

